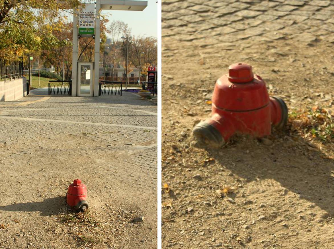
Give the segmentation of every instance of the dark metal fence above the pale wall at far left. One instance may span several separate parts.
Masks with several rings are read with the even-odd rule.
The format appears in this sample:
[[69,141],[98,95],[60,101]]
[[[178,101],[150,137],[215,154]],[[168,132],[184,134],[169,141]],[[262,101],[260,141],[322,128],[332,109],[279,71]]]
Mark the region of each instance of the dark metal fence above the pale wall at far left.
[[23,57],[18,61],[8,62],[4,58],[0,58],[0,78],[6,81],[7,79],[15,79],[23,76]]

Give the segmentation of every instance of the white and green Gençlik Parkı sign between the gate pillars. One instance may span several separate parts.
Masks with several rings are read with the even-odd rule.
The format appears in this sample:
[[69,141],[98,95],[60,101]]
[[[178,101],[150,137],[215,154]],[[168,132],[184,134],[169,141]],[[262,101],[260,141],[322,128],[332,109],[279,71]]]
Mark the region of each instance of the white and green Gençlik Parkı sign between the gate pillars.
[[94,35],[95,4],[87,3],[79,13],[79,35]]

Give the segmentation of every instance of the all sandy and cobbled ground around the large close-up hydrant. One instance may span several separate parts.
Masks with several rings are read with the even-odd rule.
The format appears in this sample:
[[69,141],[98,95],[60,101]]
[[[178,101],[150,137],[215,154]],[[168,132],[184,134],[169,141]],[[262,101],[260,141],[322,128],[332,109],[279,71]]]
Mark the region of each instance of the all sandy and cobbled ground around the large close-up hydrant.
[[[334,248],[333,139],[298,129],[294,115],[317,106],[334,127],[333,11],[330,1],[163,1],[162,248]],[[266,143],[198,148],[194,123],[236,62],[286,101],[288,128]]]

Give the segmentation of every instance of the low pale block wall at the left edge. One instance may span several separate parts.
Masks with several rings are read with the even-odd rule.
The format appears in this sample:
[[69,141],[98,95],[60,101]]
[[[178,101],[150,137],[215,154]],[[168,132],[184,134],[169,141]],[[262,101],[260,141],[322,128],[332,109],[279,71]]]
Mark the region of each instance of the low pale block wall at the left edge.
[[27,95],[27,79],[25,77],[0,81],[0,101],[14,101]]

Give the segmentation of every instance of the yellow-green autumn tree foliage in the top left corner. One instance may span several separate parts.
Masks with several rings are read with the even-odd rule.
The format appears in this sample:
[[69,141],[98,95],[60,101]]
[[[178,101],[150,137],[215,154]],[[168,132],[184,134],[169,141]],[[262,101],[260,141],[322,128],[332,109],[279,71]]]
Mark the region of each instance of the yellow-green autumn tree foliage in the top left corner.
[[[54,19],[79,0],[0,0],[0,56],[15,60],[33,50],[61,46],[52,31],[62,25]],[[65,7],[66,5],[66,7]]]

